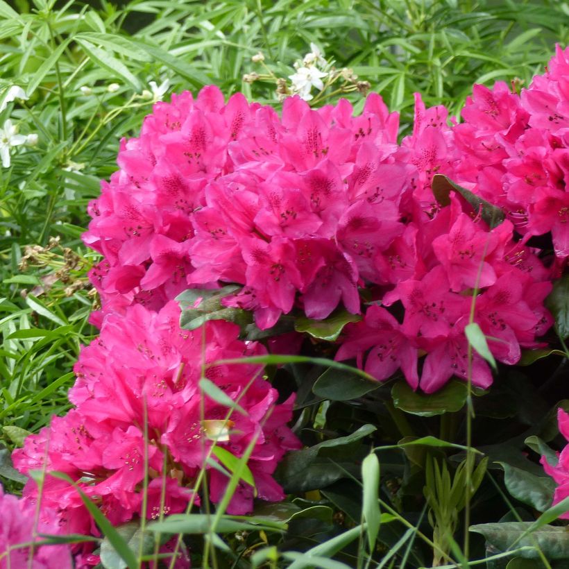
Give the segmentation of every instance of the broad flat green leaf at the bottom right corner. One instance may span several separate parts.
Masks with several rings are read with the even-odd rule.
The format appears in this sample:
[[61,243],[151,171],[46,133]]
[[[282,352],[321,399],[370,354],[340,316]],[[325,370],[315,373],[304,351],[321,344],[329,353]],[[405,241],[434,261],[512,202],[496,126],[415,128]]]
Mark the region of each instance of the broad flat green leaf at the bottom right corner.
[[569,557],[569,539],[565,527],[544,525],[527,533],[532,522],[502,522],[470,526],[470,532],[482,534],[498,550],[504,552],[513,545],[534,547],[520,552],[524,559],[538,559],[536,547],[539,547],[547,559],[567,559]]

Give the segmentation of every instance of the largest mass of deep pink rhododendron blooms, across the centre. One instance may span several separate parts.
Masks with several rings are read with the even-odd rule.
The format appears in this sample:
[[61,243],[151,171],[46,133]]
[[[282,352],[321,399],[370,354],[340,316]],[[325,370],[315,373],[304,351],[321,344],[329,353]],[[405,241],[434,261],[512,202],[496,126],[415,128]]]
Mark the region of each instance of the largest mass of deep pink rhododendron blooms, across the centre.
[[[512,141],[516,96],[496,103]],[[510,219],[491,228],[461,196],[437,203],[435,174],[477,189],[473,171],[485,166],[466,155],[468,124],[450,126],[442,105],[416,95],[401,144],[398,127],[377,94],[359,116],[346,100],[314,110],[290,97],[279,117],[240,95],[224,104],[215,87],[157,103],[91,205],[84,239],[105,255],[91,275],[103,314],[223,283],[242,285],[223,303],[252,311],[262,329],[282,314],[325,319],[343,307],[364,319],[346,328],[337,359],[357,357],[378,380],[405,362],[409,384],[432,392],[466,378],[476,289],[475,322],[495,357],[516,364],[552,323],[550,271]],[[375,303],[402,304],[402,321],[384,307],[366,312],[362,287]],[[492,382],[478,355],[473,382]]]

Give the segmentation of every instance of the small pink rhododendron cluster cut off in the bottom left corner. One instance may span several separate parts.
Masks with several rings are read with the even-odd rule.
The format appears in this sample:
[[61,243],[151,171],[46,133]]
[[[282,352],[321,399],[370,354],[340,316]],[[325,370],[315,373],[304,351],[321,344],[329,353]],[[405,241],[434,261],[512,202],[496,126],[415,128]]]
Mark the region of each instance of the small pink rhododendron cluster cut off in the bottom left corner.
[[[71,569],[67,545],[36,545],[44,541],[37,534],[60,533],[56,512],[5,494],[0,485],[0,569]],[[31,547],[33,545],[33,547]]]

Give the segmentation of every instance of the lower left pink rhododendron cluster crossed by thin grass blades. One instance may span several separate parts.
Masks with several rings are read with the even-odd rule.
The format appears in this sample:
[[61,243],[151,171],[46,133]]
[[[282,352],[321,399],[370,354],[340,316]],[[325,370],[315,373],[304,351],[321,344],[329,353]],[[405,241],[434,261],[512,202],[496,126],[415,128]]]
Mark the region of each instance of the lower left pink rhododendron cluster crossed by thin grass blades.
[[[211,500],[221,500],[228,477],[206,462],[214,441],[235,457],[253,444],[248,466],[258,497],[284,498],[271,475],[282,455],[300,445],[286,426],[294,398],[275,405],[278,393],[260,366],[213,364],[264,353],[257,343],[238,341],[236,325],[214,321],[189,332],[180,330],[179,318],[176,303],[160,312],[137,305],[126,316],[108,316],[75,366],[74,409],[13,453],[24,474],[45,468],[42,507],[58,509],[66,532],[89,534],[92,522],[76,489],[50,472],[71,477],[119,525],[142,515],[146,470],[146,515],[155,519],[185,511],[190,500],[200,503],[192,489],[201,468],[209,473]],[[202,366],[205,377],[238,402],[230,416],[228,407],[203,396]],[[241,482],[228,511],[250,511],[253,494],[253,486]],[[33,480],[24,495],[37,495]]]

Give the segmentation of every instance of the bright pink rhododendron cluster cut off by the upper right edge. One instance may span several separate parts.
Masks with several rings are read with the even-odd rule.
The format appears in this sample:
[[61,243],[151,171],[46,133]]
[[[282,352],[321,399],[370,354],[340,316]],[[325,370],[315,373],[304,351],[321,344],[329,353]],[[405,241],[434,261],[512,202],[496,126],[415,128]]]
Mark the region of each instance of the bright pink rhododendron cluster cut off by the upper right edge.
[[505,83],[475,85],[455,126],[461,176],[507,212],[525,240],[551,232],[569,256],[569,48],[521,94]]

